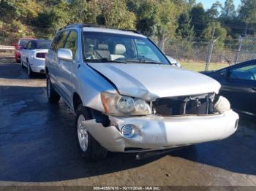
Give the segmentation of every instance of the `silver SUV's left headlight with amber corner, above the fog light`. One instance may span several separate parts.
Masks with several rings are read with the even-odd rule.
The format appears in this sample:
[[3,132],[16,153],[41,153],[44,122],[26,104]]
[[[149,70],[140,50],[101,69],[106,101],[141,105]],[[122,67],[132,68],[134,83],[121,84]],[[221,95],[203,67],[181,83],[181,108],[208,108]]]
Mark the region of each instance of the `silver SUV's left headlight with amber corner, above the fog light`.
[[151,108],[140,98],[131,98],[113,93],[101,93],[106,114],[114,116],[151,114]]

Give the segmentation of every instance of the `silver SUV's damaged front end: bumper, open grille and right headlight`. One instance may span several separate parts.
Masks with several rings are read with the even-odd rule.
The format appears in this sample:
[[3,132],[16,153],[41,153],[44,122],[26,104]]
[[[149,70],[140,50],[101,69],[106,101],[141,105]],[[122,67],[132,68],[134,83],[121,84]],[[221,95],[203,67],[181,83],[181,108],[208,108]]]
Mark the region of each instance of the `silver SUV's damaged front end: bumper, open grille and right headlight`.
[[109,114],[108,125],[87,120],[83,127],[112,152],[143,152],[225,139],[238,127],[238,114],[226,98],[215,93],[157,98],[148,106],[151,112],[145,115],[134,115],[134,111],[125,116]]

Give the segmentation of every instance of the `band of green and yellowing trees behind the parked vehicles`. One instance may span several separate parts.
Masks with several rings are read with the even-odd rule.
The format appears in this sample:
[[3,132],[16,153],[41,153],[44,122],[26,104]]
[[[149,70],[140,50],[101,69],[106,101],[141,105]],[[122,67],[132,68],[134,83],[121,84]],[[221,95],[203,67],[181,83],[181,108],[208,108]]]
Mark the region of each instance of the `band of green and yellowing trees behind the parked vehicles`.
[[[163,50],[170,39],[184,44],[194,38],[208,41],[215,23],[214,38],[221,36],[217,44],[222,47],[225,40],[244,34],[245,23],[256,23],[256,0],[241,3],[237,13],[233,0],[226,0],[223,7],[216,1],[207,10],[195,0],[0,0],[0,38],[50,39],[69,23],[96,23],[136,29]],[[255,31],[249,33],[254,35]],[[189,51],[189,43],[185,46]]]

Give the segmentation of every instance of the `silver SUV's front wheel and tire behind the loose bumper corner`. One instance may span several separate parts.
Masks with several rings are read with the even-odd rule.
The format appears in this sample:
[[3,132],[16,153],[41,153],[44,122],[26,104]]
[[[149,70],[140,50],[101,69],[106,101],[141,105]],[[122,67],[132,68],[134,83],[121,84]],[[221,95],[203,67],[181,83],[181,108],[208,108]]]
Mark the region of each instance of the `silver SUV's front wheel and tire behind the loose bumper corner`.
[[91,118],[89,110],[80,104],[75,112],[78,148],[82,157],[88,161],[95,161],[104,159],[108,154],[108,150],[102,147],[86,129],[82,128],[81,122]]

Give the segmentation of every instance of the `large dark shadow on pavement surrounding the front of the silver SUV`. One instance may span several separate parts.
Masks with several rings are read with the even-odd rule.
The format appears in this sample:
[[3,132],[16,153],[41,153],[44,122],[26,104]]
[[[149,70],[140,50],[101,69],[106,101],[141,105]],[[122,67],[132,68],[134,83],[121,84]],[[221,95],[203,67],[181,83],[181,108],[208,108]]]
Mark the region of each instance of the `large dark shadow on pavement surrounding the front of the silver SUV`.
[[138,168],[166,155],[256,175],[256,129],[243,124],[223,141],[162,155],[151,152],[141,160],[135,154],[109,153],[105,160],[89,163],[78,152],[74,114],[64,101],[48,104],[45,87],[0,86],[0,106],[0,181],[79,179]]

